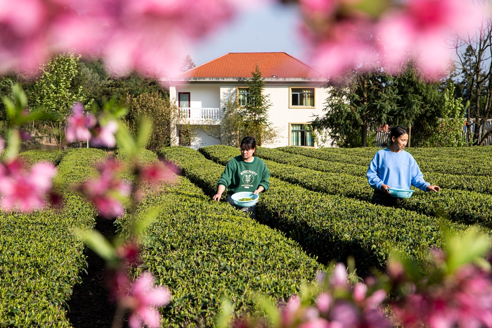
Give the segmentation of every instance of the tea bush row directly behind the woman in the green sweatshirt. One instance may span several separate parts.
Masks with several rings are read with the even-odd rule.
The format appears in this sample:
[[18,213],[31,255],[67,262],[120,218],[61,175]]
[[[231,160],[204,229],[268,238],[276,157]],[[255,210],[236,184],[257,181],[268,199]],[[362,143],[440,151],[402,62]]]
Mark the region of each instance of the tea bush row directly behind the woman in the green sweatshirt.
[[[160,154],[209,194],[215,193],[222,165],[182,147],[164,148]],[[394,245],[423,260],[425,249],[442,243],[440,222],[435,218],[308,191],[275,178],[270,179],[270,190],[260,197],[257,219],[297,240],[321,263],[344,261],[353,255],[362,269],[382,267]],[[464,229],[459,224],[453,227]]]

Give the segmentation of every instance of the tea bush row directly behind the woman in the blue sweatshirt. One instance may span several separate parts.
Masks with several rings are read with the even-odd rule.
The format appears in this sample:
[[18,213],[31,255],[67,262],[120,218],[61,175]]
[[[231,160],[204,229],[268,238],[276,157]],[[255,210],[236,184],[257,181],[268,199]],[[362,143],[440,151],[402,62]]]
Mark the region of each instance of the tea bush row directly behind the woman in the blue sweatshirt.
[[[264,150],[262,149],[261,154],[265,152]],[[238,149],[227,146],[209,146],[200,151],[219,163],[225,163],[239,154]],[[270,156],[272,157],[274,156]],[[299,169],[296,166],[268,160],[265,160],[265,163],[272,176],[310,190],[363,201],[370,201],[372,198],[372,189],[365,178]],[[453,221],[465,224],[477,223],[492,228],[491,195],[449,189],[441,189],[439,193],[416,190],[410,199],[401,199],[397,207],[431,216],[437,215],[440,210],[445,210]]]

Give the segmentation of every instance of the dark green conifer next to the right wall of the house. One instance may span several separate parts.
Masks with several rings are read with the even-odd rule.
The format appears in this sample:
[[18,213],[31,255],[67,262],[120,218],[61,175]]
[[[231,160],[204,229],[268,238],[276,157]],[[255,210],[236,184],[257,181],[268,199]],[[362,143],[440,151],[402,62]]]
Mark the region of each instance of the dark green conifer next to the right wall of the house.
[[367,147],[369,128],[392,119],[400,100],[393,78],[381,70],[353,71],[327,88],[326,114],[316,117],[312,125],[328,129],[341,147]]

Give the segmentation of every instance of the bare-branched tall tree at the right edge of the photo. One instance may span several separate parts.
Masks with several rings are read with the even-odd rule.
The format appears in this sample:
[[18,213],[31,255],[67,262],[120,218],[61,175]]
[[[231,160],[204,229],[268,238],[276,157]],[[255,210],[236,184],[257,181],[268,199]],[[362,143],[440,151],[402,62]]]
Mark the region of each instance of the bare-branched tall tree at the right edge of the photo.
[[[490,5],[490,0],[479,0]],[[460,88],[466,109],[467,143],[484,145],[492,135],[486,130],[487,119],[492,108],[492,18],[485,17],[477,22],[474,33],[456,35],[454,48],[457,54],[456,66],[460,74]],[[474,130],[472,125],[475,125]]]

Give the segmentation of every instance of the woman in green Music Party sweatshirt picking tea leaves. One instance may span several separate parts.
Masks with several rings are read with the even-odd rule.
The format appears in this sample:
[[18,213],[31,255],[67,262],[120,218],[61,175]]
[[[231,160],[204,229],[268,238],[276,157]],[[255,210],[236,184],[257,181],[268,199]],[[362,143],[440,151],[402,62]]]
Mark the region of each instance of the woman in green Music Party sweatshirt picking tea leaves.
[[270,186],[268,171],[265,162],[255,155],[256,140],[253,137],[245,137],[241,141],[241,155],[231,159],[225,166],[224,173],[217,182],[217,193],[213,199],[219,201],[222,193],[227,188],[227,202],[237,209],[241,209],[255,216],[255,205],[248,208],[240,208],[234,204],[231,196],[237,192],[249,191],[259,194],[267,191]]

